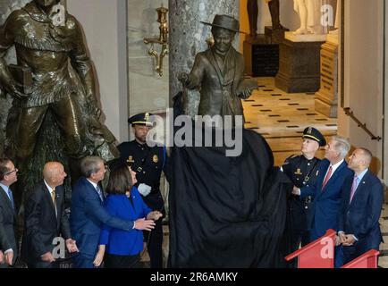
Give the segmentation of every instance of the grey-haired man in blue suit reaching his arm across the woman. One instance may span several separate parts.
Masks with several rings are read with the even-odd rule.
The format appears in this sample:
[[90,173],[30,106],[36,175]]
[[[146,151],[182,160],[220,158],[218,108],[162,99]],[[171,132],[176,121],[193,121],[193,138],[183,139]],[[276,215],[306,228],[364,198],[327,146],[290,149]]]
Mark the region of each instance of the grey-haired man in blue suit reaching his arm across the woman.
[[141,228],[134,221],[118,219],[105,211],[105,194],[98,185],[105,177],[105,162],[97,156],[87,156],[80,163],[83,177],[72,188],[72,213],[70,223],[72,236],[80,252],[74,257],[76,268],[94,268],[100,265],[97,256],[98,243],[103,224],[131,231],[154,228],[152,220],[144,220]]

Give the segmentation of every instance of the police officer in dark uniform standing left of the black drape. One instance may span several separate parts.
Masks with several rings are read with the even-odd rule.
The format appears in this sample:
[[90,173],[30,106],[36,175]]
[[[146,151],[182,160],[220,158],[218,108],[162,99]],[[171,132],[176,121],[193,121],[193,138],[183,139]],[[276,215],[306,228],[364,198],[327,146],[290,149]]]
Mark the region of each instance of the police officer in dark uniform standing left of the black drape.
[[[131,169],[136,172],[138,180],[136,187],[139,189],[144,202],[153,211],[161,212],[164,217],[164,199],[160,193],[159,185],[162,170],[166,170],[165,147],[149,147],[147,144],[148,130],[153,126],[153,123],[150,122],[150,114],[136,114],[128,120],[128,123],[132,125],[135,139],[131,142],[123,142],[117,147],[120,151],[119,163],[131,166]],[[151,268],[163,267],[163,217],[156,221],[154,230],[144,231]]]

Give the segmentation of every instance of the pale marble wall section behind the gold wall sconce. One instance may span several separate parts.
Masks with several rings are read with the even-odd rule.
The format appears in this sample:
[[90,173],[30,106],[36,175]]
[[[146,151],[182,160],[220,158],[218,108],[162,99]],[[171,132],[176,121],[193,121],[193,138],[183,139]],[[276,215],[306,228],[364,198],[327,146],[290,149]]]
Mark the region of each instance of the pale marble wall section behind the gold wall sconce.
[[[155,71],[156,60],[148,55],[149,45],[144,38],[159,37],[159,23],[156,8],[168,8],[168,1],[128,0],[128,80],[129,114],[142,112],[164,113],[168,107],[169,95],[169,56],[164,57],[163,76]],[[170,13],[170,12],[169,12]],[[155,45],[159,54],[160,45]]]

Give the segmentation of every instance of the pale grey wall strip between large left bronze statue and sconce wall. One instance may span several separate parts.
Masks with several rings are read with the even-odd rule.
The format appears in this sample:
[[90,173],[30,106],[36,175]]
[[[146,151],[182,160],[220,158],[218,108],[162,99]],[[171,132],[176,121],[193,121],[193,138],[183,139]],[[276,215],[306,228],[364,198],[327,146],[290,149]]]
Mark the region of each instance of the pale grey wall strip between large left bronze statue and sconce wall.
[[102,122],[118,141],[128,139],[126,0],[67,0],[80,21],[97,74]]

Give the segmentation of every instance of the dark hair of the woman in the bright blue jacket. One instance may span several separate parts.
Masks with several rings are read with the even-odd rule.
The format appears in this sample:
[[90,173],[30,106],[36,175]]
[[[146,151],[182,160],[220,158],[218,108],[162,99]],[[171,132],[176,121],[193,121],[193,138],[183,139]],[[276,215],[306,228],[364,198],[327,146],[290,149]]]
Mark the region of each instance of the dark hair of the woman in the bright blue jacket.
[[129,191],[132,186],[131,172],[125,164],[114,168],[110,173],[106,190],[110,194],[123,195]]

